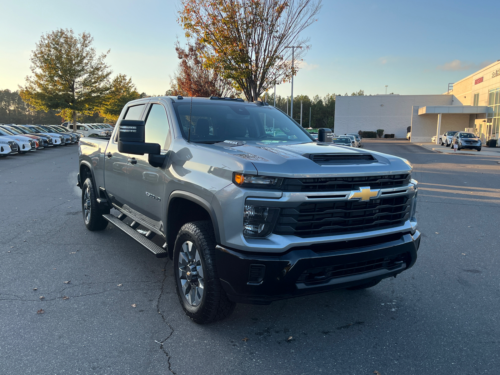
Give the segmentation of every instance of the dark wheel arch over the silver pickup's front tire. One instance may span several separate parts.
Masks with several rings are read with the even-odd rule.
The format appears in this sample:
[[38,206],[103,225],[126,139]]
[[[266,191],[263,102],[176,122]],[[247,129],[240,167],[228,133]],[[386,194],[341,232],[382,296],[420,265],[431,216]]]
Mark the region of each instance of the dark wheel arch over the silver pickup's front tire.
[[166,243],[168,255],[172,258],[173,245],[180,227],[186,222],[210,220],[213,225],[215,241],[220,243],[220,233],[215,211],[206,199],[193,193],[175,190],[168,197],[166,204]]

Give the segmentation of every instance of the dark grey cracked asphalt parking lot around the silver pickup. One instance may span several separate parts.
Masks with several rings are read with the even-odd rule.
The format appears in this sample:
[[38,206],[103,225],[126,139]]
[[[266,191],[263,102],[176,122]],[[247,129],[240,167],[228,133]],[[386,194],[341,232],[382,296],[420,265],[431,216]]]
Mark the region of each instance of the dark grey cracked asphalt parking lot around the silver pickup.
[[500,157],[364,148],[413,163],[415,265],[370,289],[238,304],[209,325],[184,315],[170,260],[84,227],[76,145],[0,159],[0,373],[498,372]]

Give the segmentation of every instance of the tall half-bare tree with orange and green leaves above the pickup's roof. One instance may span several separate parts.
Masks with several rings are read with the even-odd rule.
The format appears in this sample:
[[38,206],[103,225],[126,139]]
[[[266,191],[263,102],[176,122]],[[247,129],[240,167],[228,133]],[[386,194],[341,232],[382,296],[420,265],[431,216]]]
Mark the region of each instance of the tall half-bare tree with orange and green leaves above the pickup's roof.
[[256,100],[274,82],[296,74],[291,67],[310,47],[301,32],[316,20],[320,0],[180,0],[178,22],[188,38],[205,45],[207,68]]

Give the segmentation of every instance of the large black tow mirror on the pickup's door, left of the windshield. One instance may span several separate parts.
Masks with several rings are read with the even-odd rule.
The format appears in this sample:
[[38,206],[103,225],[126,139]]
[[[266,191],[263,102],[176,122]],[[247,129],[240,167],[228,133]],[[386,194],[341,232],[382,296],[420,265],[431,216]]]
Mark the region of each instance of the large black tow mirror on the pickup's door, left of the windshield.
[[118,126],[119,152],[134,155],[160,154],[161,147],[158,143],[144,142],[144,121],[121,120]]

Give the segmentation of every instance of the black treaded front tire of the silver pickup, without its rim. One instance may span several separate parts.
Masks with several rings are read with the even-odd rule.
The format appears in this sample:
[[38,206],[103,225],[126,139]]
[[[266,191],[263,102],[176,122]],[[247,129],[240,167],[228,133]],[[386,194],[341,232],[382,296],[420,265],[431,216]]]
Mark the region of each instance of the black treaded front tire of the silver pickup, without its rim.
[[[197,305],[192,305],[182,292],[179,256],[181,246],[186,242],[198,251],[203,273],[203,294]],[[236,303],[230,301],[222,288],[215,264],[215,235],[211,221],[193,221],[182,225],[177,233],[173,248],[173,274],[177,296],[182,309],[198,324],[210,323],[229,316]]]

